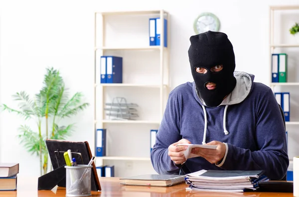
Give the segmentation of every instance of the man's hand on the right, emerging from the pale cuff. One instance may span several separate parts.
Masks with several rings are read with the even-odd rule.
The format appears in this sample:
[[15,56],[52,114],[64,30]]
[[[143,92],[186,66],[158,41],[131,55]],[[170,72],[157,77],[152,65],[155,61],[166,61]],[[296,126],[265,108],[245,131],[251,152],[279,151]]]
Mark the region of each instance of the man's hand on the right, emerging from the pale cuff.
[[217,145],[217,148],[207,149],[207,148],[192,148],[191,153],[197,154],[205,158],[210,163],[217,163],[221,161],[225,155],[226,146],[220,141],[211,141],[206,143],[206,145]]

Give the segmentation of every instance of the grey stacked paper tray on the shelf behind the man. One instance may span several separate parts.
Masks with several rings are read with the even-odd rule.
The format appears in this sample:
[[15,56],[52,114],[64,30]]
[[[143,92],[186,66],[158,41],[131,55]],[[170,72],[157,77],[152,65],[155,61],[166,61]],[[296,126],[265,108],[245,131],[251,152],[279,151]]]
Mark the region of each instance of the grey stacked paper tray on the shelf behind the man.
[[127,103],[126,98],[124,97],[115,97],[112,100],[112,103],[106,103],[107,108],[106,115],[111,120],[135,120],[139,117],[137,114],[138,107],[135,103]]

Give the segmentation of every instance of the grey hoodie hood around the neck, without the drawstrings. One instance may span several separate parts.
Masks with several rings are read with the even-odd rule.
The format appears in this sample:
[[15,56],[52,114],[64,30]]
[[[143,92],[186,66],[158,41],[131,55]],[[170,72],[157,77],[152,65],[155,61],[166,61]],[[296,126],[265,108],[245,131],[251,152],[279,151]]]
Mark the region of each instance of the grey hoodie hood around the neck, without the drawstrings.
[[[254,81],[254,75],[248,74],[246,72],[242,71],[234,71],[234,76],[237,80],[237,84],[233,91],[227,95],[227,97],[222,101],[222,103],[219,105],[235,105],[238,103],[241,103],[246,99],[246,97],[250,94],[252,88],[253,88],[253,81]],[[206,106],[203,99],[200,97],[199,92],[195,88],[195,83],[193,82],[193,96],[195,99],[203,106]]]

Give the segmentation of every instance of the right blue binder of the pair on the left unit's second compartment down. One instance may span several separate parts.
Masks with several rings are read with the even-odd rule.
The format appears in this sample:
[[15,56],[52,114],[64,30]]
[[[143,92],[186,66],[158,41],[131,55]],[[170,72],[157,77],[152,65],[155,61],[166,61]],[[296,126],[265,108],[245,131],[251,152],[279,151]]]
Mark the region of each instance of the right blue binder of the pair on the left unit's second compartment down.
[[106,56],[107,83],[123,82],[123,58]]

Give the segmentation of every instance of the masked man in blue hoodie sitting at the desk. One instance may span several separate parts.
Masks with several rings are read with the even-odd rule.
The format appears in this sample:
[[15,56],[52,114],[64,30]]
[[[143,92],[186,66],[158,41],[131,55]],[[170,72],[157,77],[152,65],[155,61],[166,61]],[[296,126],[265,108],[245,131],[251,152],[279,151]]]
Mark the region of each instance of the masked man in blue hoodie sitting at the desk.
[[[174,88],[167,101],[151,162],[159,174],[205,170],[265,170],[272,180],[287,173],[286,132],[275,96],[254,75],[234,71],[235,55],[226,34],[190,37],[189,62],[194,81]],[[187,146],[198,157],[186,160]]]

